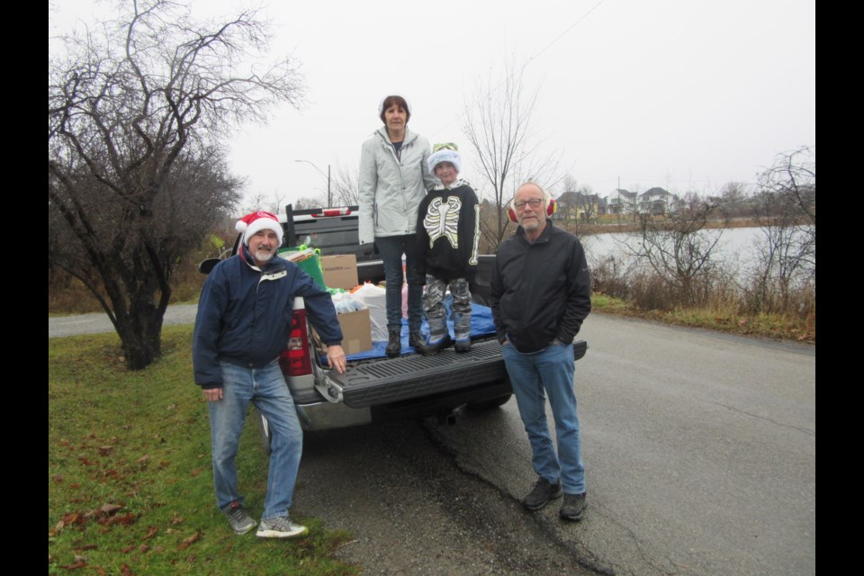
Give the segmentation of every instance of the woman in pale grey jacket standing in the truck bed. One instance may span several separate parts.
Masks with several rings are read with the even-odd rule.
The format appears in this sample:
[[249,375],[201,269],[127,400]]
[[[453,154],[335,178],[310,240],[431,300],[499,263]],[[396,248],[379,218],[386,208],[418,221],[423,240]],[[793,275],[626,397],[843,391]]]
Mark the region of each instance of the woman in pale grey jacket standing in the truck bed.
[[384,125],[364,142],[360,152],[360,243],[374,242],[384,263],[389,338],[386,352],[392,357],[401,353],[403,254],[408,280],[409,346],[423,343],[423,279],[415,261],[417,209],[437,181],[427,166],[428,140],[408,130],[408,102],[390,95],[383,99],[378,112]]

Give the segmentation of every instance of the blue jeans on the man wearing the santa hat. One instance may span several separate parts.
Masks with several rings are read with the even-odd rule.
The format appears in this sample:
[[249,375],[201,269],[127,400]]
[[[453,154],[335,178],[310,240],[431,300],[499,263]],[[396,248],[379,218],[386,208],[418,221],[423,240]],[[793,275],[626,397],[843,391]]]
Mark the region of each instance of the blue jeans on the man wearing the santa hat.
[[240,433],[251,401],[266,417],[273,431],[273,453],[270,455],[270,475],[267,477],[267,497],[262,518],[287,516],[300,468],[303,430],[279,363],[275,360],[257,369],[226,362],[221,362],[220,366],[222,400],[207,402],[210,409],[216,505],[224,510],[235,500],[243,503],[243,497],[237,489],[236,458]]

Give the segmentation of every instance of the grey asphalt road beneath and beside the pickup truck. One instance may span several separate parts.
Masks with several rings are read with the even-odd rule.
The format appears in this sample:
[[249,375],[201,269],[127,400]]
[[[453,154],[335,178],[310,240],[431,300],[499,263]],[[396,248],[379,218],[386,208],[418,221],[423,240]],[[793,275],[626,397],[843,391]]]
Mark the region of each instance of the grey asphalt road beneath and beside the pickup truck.
[[352,530],[370,574],[814,574],[815,347],[602,314],[580,338],[581,523],[518,506],[515,401],[307,434],[296,513]]

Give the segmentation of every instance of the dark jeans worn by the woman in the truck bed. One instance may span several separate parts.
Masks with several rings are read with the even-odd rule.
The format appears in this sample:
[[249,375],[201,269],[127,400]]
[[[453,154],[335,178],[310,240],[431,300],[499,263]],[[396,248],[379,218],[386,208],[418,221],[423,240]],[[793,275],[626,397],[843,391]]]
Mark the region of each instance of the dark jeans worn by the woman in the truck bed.
[[408,329],[419,332],[423,323],[423,280],[417,273],[417,237],[379,236],[375,238],[378,253],[384,263],[387,289],[387,329],[402,329],[402,254],[405,255],[405,279],[408,281]]

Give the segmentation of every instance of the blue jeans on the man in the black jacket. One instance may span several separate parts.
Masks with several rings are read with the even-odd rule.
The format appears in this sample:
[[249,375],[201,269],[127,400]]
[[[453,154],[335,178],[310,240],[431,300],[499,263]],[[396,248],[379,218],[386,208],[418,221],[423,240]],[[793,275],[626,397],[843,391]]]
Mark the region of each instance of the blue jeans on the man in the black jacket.
[[[508,342],[501,347],[501,354],[531,442],[534,471],[551,483],[560,478],[567,494],[581,494],[585,491],[585,464],[573,390],[573,345],[549,345],[539,352],[522,354]],[[546,395],[555,419],[557,455],[546,425]]]

